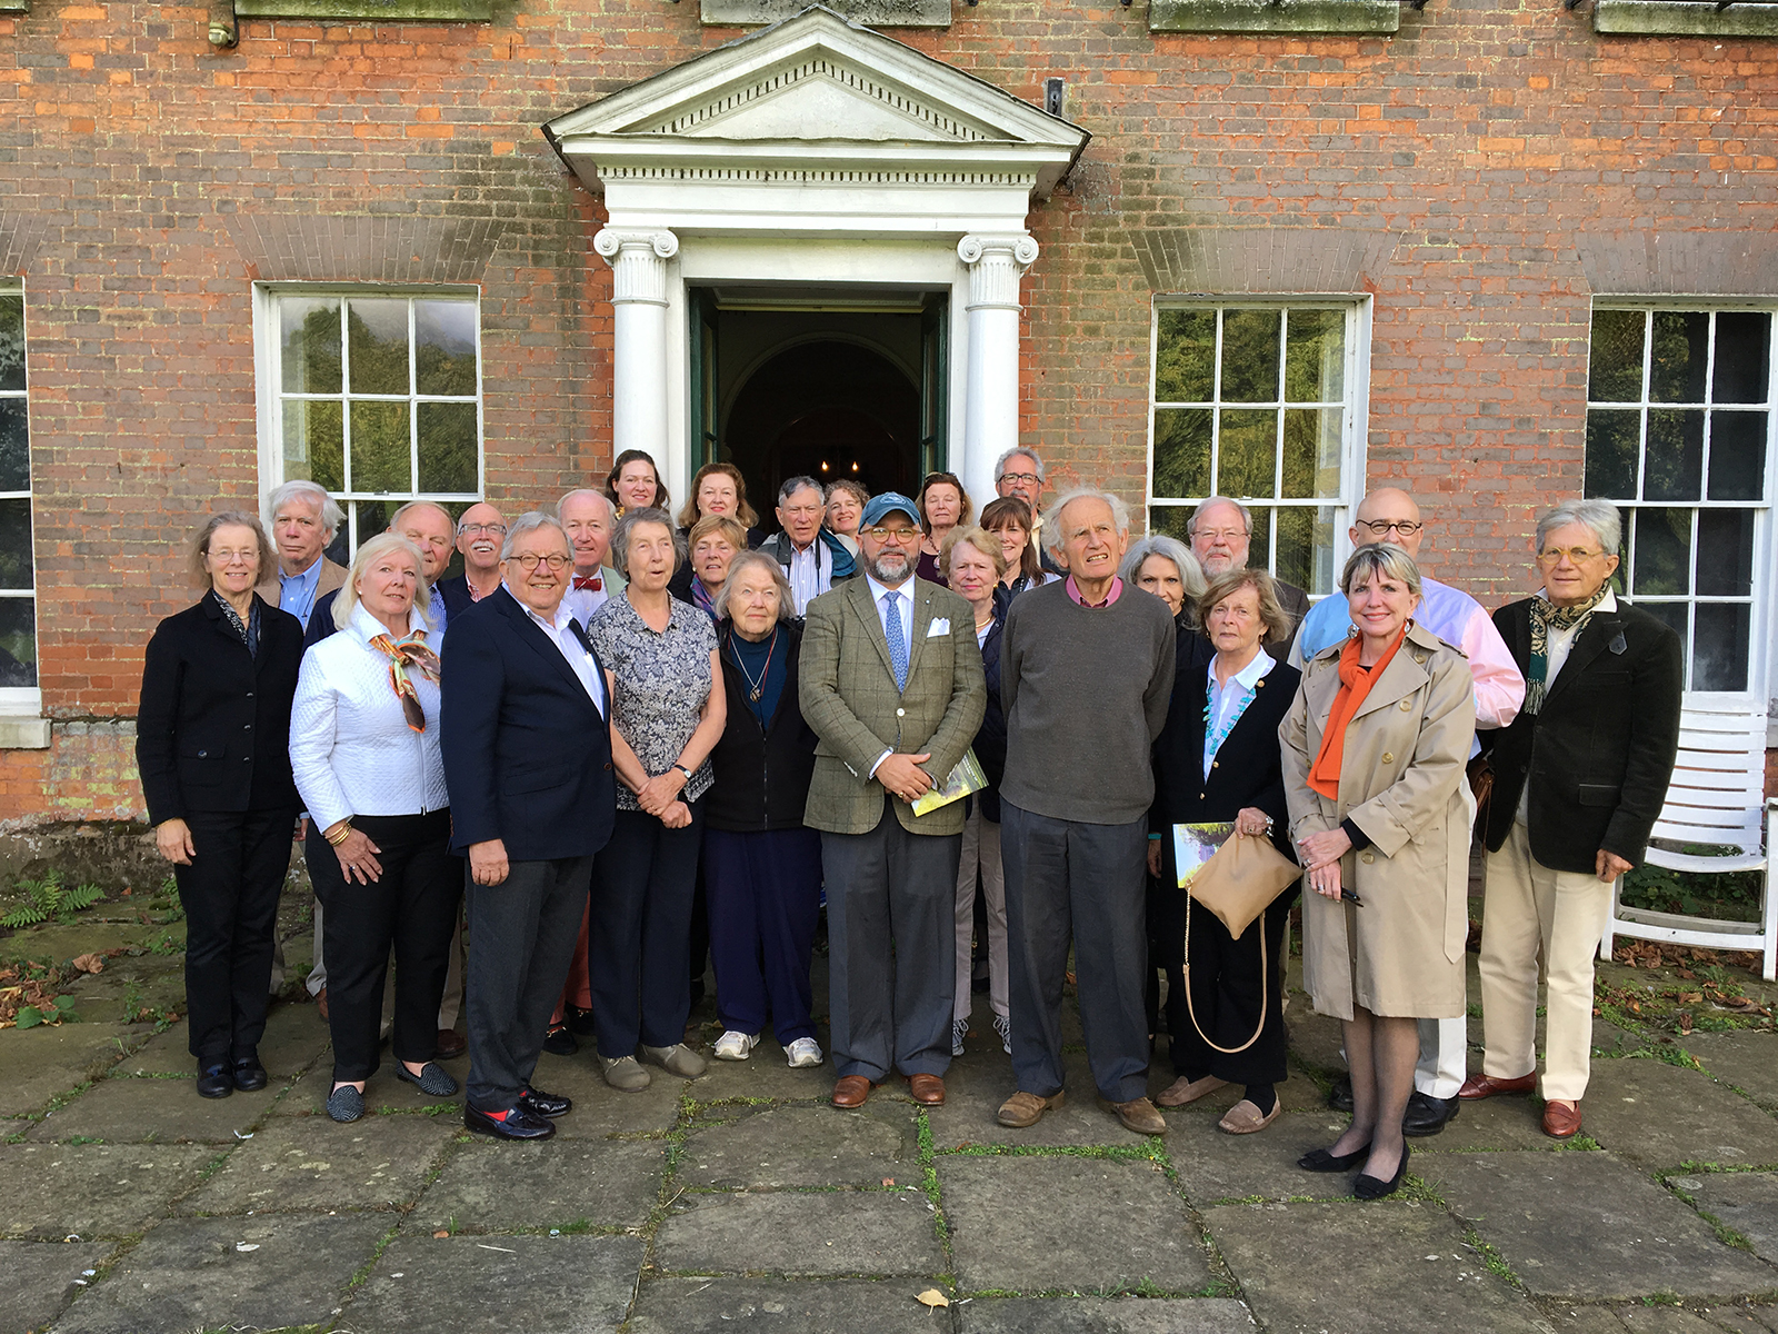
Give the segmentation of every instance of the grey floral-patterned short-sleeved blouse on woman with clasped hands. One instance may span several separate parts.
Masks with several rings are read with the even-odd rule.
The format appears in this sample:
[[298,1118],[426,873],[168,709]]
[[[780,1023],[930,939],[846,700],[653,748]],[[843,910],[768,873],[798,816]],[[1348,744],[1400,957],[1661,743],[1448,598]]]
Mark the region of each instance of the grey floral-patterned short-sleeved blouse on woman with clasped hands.
[[[709,655],[717,651],[717,630],[704,612],[677,598],[670,598],[669,607],[672,619],[660,635],[622,594],[594,612],[587,626],[599,662],[617,679],[612,722],[649,777],[672,768],[697,731],[701,710],[709,699]],[[706,758],[685,784],[681,799],[697,800],[709,792],[711,779]],[[637,793],[622,783],[617,784],[617,809],[642,809]]]

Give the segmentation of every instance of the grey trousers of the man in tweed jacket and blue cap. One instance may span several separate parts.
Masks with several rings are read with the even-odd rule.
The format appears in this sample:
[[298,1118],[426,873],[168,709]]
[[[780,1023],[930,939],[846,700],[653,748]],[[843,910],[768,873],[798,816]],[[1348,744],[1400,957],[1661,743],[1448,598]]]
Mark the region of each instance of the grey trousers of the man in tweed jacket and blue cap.
[[[957,857],[962,834],[910,834],[893,797],[868,834],[821,834],[834,1071],[951,1065]],[[548,1017],[548,1016],[546,1016]]]

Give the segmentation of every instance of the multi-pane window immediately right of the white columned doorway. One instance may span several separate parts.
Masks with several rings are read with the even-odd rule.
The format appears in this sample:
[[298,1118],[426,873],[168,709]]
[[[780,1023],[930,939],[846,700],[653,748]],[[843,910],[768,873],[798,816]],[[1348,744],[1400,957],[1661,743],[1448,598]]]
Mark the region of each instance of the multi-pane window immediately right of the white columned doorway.
[[1332,592],[1358,390],[1358,309],[1161,306],[1154,325],[1149,528],[1186,537],[1198,502],[1253,512],[1248,564]]

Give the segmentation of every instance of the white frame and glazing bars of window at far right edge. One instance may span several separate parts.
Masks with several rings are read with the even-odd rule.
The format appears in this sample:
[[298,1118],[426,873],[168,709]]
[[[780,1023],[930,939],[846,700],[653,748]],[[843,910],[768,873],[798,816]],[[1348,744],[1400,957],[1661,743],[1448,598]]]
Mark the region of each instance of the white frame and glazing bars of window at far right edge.
[[[1650,358],[1654,356],[1654,340],[1650,336],[1650,324],[1643,329],[1643,388],[1641,400],[1636,404],[1625,402],[1602,402],[1591,397],[1591,315],[1600,309],[1629,309],[1629,311],[1686,311],[1696,315],[1714,315],[1714,313],[1735,313],[1735,311],[1758,311],[1773,318],[1771,342],[1767,345],[1767,368],[1766,368],[1766,477],[1764,477],[1764,498],[1760,502],[1748,500],[1710,500],[1710,430],[1705,427],[1703,454],[1700,459],[1700,480],[1698,480],[1698,500],[1620,500],[1618,496],[1600,496],[1609,500],[1613,505],[1623,512],[1625,519],[1630,518],[1634,510],[1639,509],[1732,509],[1732,510],[1751,510],[1753,512],[1753,567],[1751,567],[1751,591],[1750,591],[1750,614],[1748,614],[1748,685],[1744,690],[1693,690],[1691,688],[1691,651],[1693,637],[1686,640],[1686,703],[1714,703],[1714,704],[1746,704],[1766,708],[1769,713],[1778,713],[1778,701],[1769,699],[1769,665],[1778,656],[1778,644],[1774,644],[1774,635],[1778,635],[1778,624],[1771,615],[1771,599],[1778,596],[1778,569],[1774,569],[1774,550],[1773,550],[1773,505],[1774,496],[1778,496],[1778,301],[1734,301],[1721,297],[1595,297],[1591,311],[1588,313],[1588,398],[1586,411],[1591,414],[1598,411],[1627,411],[1636,407],[1641,411],[1639,436],[1638,436],[1638,491],[1641,491],[1643,477],[1648,466],[1648,411],[1655,409],[1691,409],[1691,411],[1714,411],[1723,407],[1726,411],[1757,411],[1758,404],[1714,404],[1712,397],[1716,393],[1716,324],[1710,324],[1710,343],[1709,359],[1705,363],[1705,400],[1702,404],[1684,402],[1684,404],[1650,404],[1648,395],[1648,372]],[[1584,439],[1582,423],[1582,439]],[[1584,461],[1582,461],[1582,486],[1584,486]],[[1694,521],[1696,525],[1696,521]],[[1636,548],[1632,534],[1636,525],[1625,523],[1625,548],[1627,559],[1625,567],[1618,571],[1620,587],[1627,589],[1627,598],[1634,605],[1638,601],[1632,573],[1636,562]],[[1696,562],[1698,562],[1698,539],[1696,526],[1693,528],[1691,539],[1691,583],[1696,585]],[[1703,596],[1691,592],[1684,598],[1654,596],[1657,603],[1670,605],[1691,605],[1702,603],[1739,603],[1741,598],[1732,596]]]

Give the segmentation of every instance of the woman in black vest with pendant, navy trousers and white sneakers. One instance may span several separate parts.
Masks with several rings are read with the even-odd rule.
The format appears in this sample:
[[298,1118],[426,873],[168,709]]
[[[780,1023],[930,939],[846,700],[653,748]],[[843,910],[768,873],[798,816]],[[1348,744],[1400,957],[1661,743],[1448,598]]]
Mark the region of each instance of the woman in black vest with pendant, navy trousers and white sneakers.
[[717,596],[729,722],[709,752],[704,811],[709,952],[717,964],[718,1060],[747,1060],[772,1030],[791,1067],[821,1064],[809,953],[821,911],[821,836],[802,824],[814,729],[802,719],[802,630],[784,567],[741,551]]

